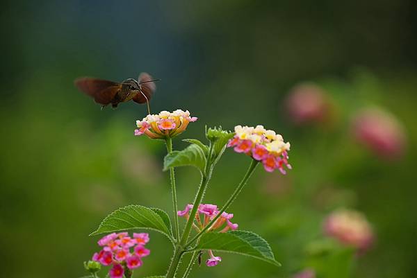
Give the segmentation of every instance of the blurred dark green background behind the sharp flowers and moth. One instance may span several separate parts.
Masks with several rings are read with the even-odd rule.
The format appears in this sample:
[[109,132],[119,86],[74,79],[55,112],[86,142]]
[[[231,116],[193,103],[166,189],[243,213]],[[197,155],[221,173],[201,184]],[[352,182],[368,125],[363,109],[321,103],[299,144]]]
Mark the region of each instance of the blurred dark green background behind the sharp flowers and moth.
[[[292,277],[306,268],[324,278],[415,277],[416,8],[412,0],[2,1],[1,276],[81,277],[98,248],[88,234],[106,214],[131,203],[170,211],[165,147],[133,137],[145,106],[100,110],[73,85],[148,71],[162,79],[154,112],[199,117],[182,138],[203,140],[204,125],[261,123],[292,144],[293,171],[259,168],[229,209],[283,266],[222,254],[220,266],[191,277]],[[380,121],[361,121],[375,109]],[[174,148],[186,146],[180,139]],[[221,205],[248,164],[228,150],[206,202]],[[183,207],[199,175],[181,168],[177,177]],[[373,227],[363,254],[323,234],[341,208]],[[152,233],[149,246],[135,277],[165,272],[170,243]]]

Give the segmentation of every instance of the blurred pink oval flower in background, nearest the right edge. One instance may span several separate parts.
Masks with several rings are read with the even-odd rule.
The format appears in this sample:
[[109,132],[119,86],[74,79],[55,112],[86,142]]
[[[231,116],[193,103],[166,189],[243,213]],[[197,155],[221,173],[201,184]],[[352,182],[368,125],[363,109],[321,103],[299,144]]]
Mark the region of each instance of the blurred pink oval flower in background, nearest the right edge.
[[377,155],[395,158],[404,152],[406,135],[402,124],[385,110],[361,110],[354,116],[352,128],[357,140]]

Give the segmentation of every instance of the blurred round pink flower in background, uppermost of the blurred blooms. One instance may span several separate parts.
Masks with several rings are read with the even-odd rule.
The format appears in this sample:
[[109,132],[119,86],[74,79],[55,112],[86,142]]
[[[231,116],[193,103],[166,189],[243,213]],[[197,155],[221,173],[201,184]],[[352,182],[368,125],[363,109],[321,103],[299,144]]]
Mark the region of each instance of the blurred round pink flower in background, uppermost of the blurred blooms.
[[295,86],[286,99],[286,107],[291,121],[298,124],[322,121],[329,112],[325,93],[313,83]]

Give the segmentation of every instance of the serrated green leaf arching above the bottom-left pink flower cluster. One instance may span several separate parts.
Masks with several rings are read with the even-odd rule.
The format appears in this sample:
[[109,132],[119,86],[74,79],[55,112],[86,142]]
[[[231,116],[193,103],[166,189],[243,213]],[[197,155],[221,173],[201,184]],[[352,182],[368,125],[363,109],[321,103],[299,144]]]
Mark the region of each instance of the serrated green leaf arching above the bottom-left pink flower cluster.
[[[170,226],[167,225],[165,216],[161,217],[161,214],[161,209],[149,209],[140,205],[122,207],[104,218],[99,228],[90,236],[126,229],[153,229],[165,234],[172,241]],[[164,212],[164,214],[166,213]]]

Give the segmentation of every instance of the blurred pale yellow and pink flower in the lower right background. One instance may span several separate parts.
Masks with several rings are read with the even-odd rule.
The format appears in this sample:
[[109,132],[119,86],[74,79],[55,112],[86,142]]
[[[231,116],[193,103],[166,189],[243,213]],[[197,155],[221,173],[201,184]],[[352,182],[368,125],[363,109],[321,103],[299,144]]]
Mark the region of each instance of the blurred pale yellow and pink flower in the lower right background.
[[373,243],[374,234],[370,223],[358,211],[339,210],[327,216],[324,223],[325,234],[345,245],[365,251]]

